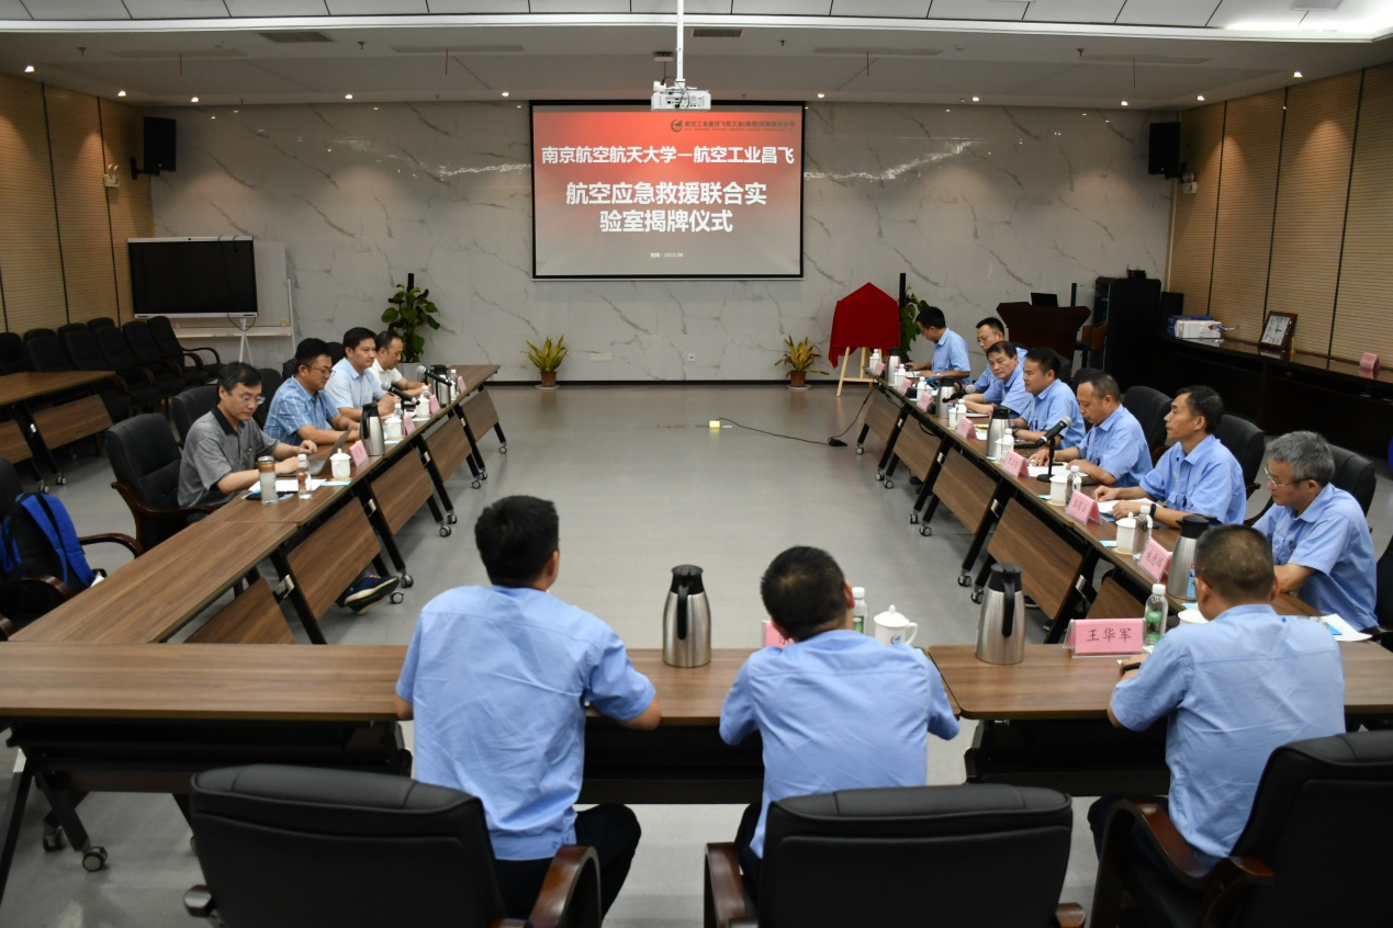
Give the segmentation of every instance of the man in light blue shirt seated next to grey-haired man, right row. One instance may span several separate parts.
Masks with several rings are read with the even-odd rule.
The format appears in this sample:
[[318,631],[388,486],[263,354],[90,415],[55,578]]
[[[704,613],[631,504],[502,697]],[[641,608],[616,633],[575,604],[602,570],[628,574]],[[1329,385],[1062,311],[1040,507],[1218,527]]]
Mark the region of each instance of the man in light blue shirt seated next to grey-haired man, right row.
[[1145,509],[1172,529],[1191,513],[1238,525],[1248,508],[1248,491],[1243,466],[1212,434],[1222,420],[1223,401],[1213,388],[1185,387],[1166,413],[1166,437],[1174,444],[1152,472],[1137,487],[1107,487],[1094,497],[1099,502],[1121,499],[1113,506],[1116,519]]

